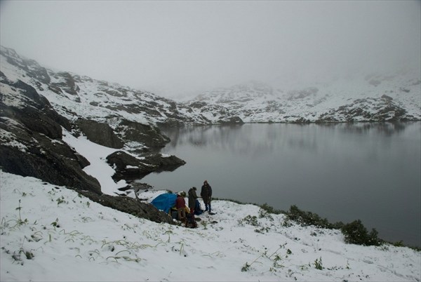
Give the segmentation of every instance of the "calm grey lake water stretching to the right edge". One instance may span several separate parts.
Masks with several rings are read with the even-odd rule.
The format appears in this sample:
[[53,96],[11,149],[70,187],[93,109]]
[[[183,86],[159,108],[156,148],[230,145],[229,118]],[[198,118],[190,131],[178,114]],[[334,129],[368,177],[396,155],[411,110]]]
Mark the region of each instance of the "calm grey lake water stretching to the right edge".
[[[161,152],[187,164],[140,182],[173,192],[203,180],[213,196],[291,205],[330,222],[361,220],[387,241],[420,246],[421,123],[201,126],[163,130]],[[218,210],[215,210],[218,212]]]

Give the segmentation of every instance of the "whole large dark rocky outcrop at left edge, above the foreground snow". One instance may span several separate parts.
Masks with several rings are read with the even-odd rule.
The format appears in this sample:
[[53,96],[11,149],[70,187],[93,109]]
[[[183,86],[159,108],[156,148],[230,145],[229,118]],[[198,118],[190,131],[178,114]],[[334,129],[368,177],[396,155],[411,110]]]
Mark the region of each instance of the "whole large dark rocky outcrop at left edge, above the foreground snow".
[[52,184],[101,193],[98,180],[82,170],[88,161],[61,140],[62,126],[70,129],[69,121],[22,81],[12,83],[2,77],[1,93],[1,168]]

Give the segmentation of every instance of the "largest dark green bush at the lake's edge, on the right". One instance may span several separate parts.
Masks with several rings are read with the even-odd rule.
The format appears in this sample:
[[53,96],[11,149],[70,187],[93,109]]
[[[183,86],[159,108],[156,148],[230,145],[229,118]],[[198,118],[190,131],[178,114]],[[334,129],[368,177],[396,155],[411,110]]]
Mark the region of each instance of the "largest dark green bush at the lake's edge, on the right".
[[368,233],[366,227],[361,220],[354,220],[342,227],[342,233],[345,236],[345,242],[363,245],[363,246],[380,246],[382,241],[377,238],[377,230],[374,228]]

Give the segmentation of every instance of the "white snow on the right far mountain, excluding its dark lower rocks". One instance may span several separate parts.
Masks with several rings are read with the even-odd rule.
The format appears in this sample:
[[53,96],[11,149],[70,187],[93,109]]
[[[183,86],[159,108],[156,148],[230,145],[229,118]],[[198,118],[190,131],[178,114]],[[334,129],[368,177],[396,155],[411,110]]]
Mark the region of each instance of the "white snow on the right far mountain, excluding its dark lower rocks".
[[[374,86],[370,81],[375,79]],[[308,121],[317,121],[321,114],[344,105],[352,105],[359,99],[380,99],[387,95],[411,116],[421,119],[421,81],[419,69],[408,72],[396,71],[394,74],[371,75],[356,74],[341,77],[328,82],[289,83],[278,81],[273,88],[262,83],[244,83],[229,88],[208,90],[191,102],[206,102],[231,109],[246,123],[295,121],[302,117]],[[269,106],[270,105],[270,106]],[[269,106],[269,107],[268,107]],[[373,105],[365,105],[372,108]],[[268,109],[269,108],[269,109]],[[201,114],[203,109],[194,109]],[[378,109],[377,109],[378,111]],[[215,121],[212,111],[206,118]],[[345,121],[335,116],[338,121]],[[355,121],[366,121],[361,116]]]

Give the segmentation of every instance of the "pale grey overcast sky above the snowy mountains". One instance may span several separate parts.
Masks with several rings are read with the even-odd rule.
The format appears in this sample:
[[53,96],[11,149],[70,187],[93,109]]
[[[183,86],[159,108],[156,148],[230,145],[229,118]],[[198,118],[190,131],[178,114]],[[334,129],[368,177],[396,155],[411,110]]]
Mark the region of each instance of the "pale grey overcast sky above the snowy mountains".
[[174,98],[421,65],[421,1],[1,1],[1,45]]

